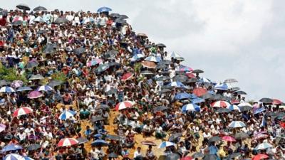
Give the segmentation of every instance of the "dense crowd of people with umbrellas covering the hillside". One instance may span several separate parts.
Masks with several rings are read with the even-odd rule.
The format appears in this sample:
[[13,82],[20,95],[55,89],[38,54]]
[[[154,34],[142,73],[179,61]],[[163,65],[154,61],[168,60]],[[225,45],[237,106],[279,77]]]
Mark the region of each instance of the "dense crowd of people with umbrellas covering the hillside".
[[202,78],[107,7],[18,8],[0,12],[0,70],[19,78],[0,75],[3,159],[285,159],[280,100]]

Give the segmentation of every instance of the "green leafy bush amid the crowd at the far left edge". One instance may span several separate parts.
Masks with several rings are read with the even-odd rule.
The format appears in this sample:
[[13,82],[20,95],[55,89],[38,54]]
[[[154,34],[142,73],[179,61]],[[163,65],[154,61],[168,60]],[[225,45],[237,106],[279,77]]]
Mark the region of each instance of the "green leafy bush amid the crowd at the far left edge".
[[5,68],[2,63],[0,63],[0,80],[21,80],[24,84],[28,82],[26,74],[18,75],[16,74],[16,68]]

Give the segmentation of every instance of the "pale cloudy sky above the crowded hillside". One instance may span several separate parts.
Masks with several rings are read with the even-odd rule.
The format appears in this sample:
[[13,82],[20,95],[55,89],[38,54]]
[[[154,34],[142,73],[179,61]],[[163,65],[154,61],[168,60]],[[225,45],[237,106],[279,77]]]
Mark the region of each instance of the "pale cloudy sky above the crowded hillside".
[[234,78],[248,95],[285,101],[284,0],[0,0],[4,9],[27,4],[33,9],[96,11],[108,6],[126,14],[137,33],[164,43],[183,65],[202,69],[216,82]]

